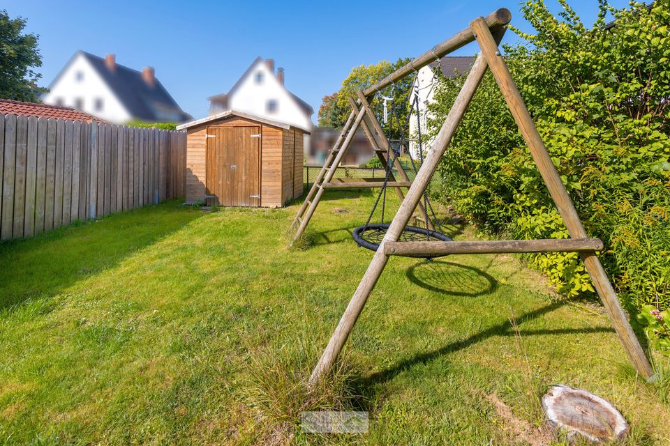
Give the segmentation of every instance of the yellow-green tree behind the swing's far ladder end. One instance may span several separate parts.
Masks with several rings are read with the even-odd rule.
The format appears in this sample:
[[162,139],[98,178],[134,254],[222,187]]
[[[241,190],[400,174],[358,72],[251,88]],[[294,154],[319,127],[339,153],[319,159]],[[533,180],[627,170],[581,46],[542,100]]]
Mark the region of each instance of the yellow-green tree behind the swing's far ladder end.
[[[398,59],[395,63],[381,61],[372,65],[361,65],[352,68],[348,77],[343,80],[339,91],[332,95],[324,96],[322,104],[319,107],[319,127],[343,128],[351,112],[348,98],[356,98],[357,91],[363,91],[373,86],[405,65],[405,63],[408,63],[408,61],[410,59]],[[400,123],[405,123],[408,119],[410,112],[408,98],[412,82],[413,78],[408,76],[380,91],[381,95],[395,98],[396,104],[399,105],[398,121]],[[378,115],[382,114],[383,110],[383,100],[379,96],[379,94],[375,95],[370,103],[372,109]],[[401,129],[396,122],[393,122],[386,132],[388,137],[397,139],[399,138]]]

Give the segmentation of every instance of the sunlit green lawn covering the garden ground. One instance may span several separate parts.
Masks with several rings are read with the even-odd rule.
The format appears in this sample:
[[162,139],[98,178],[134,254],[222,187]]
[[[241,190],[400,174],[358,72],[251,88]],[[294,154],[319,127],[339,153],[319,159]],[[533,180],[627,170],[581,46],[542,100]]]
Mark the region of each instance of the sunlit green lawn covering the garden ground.
[[[629,444],[670,443],[668,379],[636,378],[600,307],[504,255],[392,259],[332,386],[306,394],[371,259],[350,229],[372,201],[328,194],[304,250],[297,206],[179,203],[0,245],[0,444],[523,444],[551,383],[612,401]],[[301,433],[328,407],[371,431]]]

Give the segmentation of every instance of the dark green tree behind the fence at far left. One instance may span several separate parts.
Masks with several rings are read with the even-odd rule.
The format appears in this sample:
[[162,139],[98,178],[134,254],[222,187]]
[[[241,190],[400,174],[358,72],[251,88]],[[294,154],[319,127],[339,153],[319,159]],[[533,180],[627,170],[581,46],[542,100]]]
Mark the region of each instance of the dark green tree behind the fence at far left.
[[47,89],[37,86],[42,75],[31,68],[42,66],[42,56],[38,36],[23,34],[25,27],[23,17],[11,19],[0,10],[0,98],[40,102]]

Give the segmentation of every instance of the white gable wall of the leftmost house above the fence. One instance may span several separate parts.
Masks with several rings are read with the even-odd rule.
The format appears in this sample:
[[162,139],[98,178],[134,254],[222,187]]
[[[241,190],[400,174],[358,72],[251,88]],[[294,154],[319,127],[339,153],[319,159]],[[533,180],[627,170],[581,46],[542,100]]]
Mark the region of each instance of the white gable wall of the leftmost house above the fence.
[[[117,100],[86,57],[82,54],[76,54],[74,57],[75,59],[61,73],[57,82],[51,86],[51,91],[45,95],[43,99],[45,104],[77,108],[75,107],[76,100],[81,98],[82,112],[90,113],[114,124],[123,124],[131,120],[131,115]],[[77,80],[77,72],[82,73],[81,80]],[[94,107],[94,102],[98,98],[103,100],[102,110],[96,110]],[[59,100],[62,103],[59,104]]]

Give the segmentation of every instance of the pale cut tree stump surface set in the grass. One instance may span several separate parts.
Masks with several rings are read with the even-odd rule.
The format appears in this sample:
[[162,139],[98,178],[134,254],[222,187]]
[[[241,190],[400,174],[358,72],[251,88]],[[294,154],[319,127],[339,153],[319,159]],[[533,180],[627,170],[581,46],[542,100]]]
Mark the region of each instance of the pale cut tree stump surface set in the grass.
[[549,424],[569,439],[577,434],[592,441],[624,438],[628,423],[605,399],[586,390],[554,385],[542,397],[542,408]]

